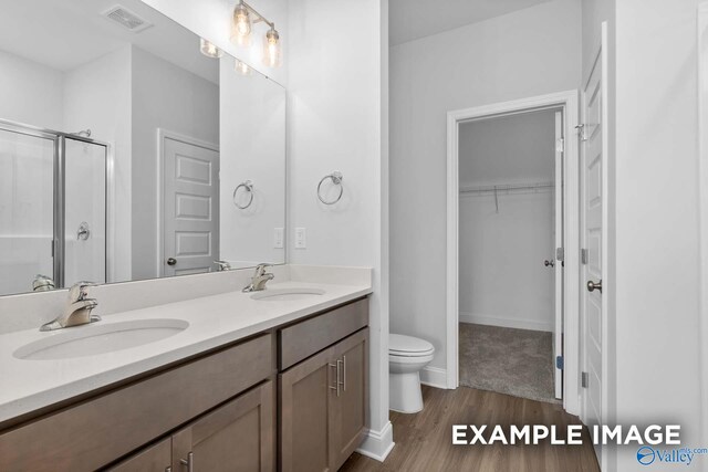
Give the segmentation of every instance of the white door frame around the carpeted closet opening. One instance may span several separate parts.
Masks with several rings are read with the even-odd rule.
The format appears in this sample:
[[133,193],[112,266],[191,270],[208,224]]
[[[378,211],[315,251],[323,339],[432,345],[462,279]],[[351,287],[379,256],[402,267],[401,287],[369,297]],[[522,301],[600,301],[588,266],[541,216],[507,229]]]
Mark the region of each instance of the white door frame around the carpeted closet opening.
[[[459,125],[465,122],[514,115],[548,108],[562,108],[564,116],[564,248],[563,274],[563,407],[571,415],[580,411],[580,208],[579,91],[571,90],[511,102],[501,102],[447,114],[447,388],[459,386]],[[570,211],[573,209],[573,211]]]

